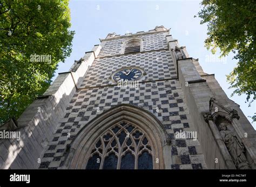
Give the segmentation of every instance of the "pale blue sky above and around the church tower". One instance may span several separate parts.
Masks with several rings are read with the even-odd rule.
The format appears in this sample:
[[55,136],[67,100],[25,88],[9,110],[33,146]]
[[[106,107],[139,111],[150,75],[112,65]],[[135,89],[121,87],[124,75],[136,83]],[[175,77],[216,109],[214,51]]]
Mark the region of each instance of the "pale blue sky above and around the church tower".
[[[186,46],[190,57],[199,58],[199,63],[204,72],[214,73],[220,86],[228,97],[233,90],[228,89],[226,74],[230,73],[236,60],[233,54],[225,59],[219,59],[219,54],[213,55],[204,47],[207,37],[207,26],[200,25],[200,19],[194,18],[201,8],[200,1],[70,1],[71,30],[76,34],[73,38],[72,53],[65,63],[59,63],[56,71],[69,71],[74,60],[84,56],[86,51],[100,44],[99,38],[105,38],[108,33],[148,31],[155,26],[164,25],[171,28],[170,34],[178,39],[180,46]],[[215,59],[214,59],[215,58]],[[231,100],[237,102],[246,116],[253,115],[256,110],[255,102],[251,107],[245,103],[245,95],[235,95]],[[250,122],[252,120],[248,118]],[[253,123],[256,129],[256,123]]]

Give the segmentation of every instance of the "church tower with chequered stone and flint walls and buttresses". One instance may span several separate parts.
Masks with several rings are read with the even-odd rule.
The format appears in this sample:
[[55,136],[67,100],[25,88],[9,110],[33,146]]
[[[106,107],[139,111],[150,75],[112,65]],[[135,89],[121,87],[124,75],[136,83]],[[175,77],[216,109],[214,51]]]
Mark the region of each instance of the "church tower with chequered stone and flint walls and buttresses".
[[252,125],[169,32],[101,39],[1,127],[0,168],[255,169]]

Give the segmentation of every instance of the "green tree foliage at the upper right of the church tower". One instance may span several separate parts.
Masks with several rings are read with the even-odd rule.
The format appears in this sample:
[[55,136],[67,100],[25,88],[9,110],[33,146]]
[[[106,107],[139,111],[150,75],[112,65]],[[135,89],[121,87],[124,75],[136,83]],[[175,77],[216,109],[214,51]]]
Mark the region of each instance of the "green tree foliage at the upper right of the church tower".
[[[206,23],[208,27],[205,45],[212,53],[219,48],[221,56],[234,53],[238,64],[227,75],[227,81],[234,88],[233,94],[247,95],[246,101],[251,106],[256,91],[256,3],[254,0],[204,0],[201,4],[204,7],[198,16],[201,24]],[[255,114],[253,121],[256,121]]]

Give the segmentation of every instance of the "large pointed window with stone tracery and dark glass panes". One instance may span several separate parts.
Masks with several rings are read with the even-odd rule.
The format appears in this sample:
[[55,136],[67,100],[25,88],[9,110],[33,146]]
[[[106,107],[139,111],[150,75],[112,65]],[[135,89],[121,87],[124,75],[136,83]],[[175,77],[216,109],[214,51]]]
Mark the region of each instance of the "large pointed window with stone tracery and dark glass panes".
[[153,169],[153,158],[151,142],[144,131],[122,121],[93,143],[86,169]]

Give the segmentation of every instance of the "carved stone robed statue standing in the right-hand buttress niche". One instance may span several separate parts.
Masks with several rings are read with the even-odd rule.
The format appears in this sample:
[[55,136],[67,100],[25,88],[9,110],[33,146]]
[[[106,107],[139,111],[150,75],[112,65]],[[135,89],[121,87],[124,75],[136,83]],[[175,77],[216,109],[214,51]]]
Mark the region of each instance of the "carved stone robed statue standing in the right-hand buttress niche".
[[237,169],[251,169],[244,154],[244,144],[232,131],[227,129],[227,122],[221,122],[219,124],[219,130],[227,150],[235,163],[235,167],[237,167]]

